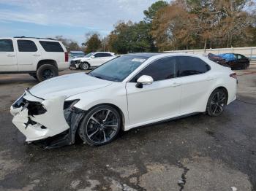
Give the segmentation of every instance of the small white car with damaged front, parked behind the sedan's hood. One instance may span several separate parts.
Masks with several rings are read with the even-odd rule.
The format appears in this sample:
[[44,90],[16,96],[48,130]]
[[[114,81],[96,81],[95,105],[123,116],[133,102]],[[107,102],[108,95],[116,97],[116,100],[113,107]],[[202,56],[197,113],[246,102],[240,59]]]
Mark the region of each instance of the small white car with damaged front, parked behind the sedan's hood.
[[70,67],[87,70],[91,67],[98,67],[113,58],[116,58],[116,55],[113,52],[91,52],[82,58],[72,59]]

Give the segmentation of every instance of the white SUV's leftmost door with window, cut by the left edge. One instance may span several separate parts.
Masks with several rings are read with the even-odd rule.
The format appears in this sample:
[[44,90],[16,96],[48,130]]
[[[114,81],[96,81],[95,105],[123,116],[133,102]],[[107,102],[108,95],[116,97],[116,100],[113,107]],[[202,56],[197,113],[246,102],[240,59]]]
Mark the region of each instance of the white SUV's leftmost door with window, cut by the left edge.
[[18,71],[12,39],[0,39],[0,71]]

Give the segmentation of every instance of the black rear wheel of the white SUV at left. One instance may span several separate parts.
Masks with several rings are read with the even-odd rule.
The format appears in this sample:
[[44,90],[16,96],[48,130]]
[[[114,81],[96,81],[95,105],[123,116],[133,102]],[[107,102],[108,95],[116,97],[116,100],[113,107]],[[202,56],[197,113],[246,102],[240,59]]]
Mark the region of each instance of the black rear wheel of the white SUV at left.
[[50,79],[52,77],[58,77],[58,75],[58,69],[56,68],[56,66],[53,66],[51,64],[44,64],[42,66],[39,66],[39,69],[37,69],[37,79],[39,80],[39,82]]

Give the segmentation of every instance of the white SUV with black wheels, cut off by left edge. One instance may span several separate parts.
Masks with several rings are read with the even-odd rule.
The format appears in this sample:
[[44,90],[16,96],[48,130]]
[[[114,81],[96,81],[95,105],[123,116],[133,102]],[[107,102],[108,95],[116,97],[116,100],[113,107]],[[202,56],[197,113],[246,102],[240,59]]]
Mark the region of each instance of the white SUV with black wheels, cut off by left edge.
[[40,82],[69,68],[64,45],[54,39],[0,38],[0,74],[30,74]]

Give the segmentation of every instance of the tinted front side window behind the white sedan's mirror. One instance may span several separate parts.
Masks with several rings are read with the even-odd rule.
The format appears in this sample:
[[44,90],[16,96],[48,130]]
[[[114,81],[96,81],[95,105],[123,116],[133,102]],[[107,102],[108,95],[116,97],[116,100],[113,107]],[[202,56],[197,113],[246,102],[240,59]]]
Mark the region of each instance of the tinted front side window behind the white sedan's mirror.
[[173,78],[176,75],[175,66],[175,57],[161,58],[146,66],[146,68],[140,71],[131,80],[131,82],[137,82],[138,78],[143,75],[151,76],[154,79],[154,81]]

